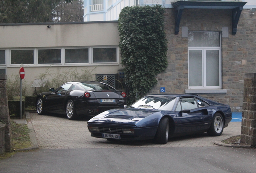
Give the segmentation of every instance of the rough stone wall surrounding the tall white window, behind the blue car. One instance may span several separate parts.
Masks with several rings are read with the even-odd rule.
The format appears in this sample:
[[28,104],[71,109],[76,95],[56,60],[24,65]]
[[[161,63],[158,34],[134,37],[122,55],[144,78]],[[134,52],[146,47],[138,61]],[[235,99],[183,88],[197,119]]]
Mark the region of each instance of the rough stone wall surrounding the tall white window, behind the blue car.
[[199,94],[202,97],[228,104],[232,111],[242,111],[244,74],[256,72],[256,15],[244,9],[237,33],[232,35],[231,10],[184,9],[178,35],[174,34],[174,9],[165,12],[165,32],[168,40],[167,69],[157,76],[158,84],[151,93],[185,93],[188,89],[188,38],[182,37],[182,26],[189,31],[221,31],[229,28],[228,38],[221,39],[222,88],[227,93]]

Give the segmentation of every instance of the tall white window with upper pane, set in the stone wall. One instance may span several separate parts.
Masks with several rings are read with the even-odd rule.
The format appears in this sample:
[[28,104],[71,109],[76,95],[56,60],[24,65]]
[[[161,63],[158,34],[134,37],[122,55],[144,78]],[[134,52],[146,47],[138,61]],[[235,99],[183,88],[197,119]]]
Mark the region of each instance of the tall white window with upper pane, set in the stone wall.
[[189,89],[221,88],[219,32],[188,32]]

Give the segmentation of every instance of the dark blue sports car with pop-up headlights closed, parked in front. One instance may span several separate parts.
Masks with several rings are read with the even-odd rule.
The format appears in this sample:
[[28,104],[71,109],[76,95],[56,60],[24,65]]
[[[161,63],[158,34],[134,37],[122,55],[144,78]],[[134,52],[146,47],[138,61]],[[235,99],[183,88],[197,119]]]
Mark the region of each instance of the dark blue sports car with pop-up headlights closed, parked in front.
[[197,95],[149,95],[125,109],[111,109],[88,121],[92,137],[155,139],[207,132],[219,136],[232,119],[228,105]]

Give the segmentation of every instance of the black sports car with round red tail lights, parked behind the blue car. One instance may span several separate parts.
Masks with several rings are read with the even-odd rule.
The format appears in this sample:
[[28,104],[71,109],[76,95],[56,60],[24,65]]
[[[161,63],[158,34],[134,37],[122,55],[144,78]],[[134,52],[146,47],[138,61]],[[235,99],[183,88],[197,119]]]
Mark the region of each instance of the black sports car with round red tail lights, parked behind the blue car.
[[66,114],[68,119],[79,115],[97,115],[109,109],[124,108],[125,93],[95,81],[67,82],[58,89],[37,95],[38,114]]

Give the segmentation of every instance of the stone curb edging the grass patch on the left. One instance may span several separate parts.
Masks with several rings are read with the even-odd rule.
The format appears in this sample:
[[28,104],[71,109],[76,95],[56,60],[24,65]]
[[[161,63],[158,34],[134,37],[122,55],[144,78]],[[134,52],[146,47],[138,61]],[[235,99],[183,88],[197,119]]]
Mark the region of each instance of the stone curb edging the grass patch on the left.
[[[25,116],[26,116],[26,119],[29,119],[29,120],[31,119],[30,115],[29,115],[29,112],[25,112]],[[31,123],[31,121],[29,123],[27,123],[27,127],[30,130],[29,138],[30,138],[30,141],[31,141],[33,146],[28,147],[28,148],[24,148],[24,149],[15,149],[15,151],[27,151],[27,150],[39,149],[38,144],[37,144],[37,139],[35,138],[35,130],[33,128],[33,125]]]

